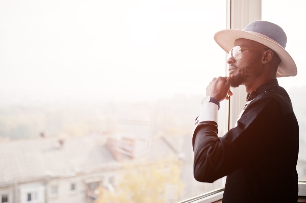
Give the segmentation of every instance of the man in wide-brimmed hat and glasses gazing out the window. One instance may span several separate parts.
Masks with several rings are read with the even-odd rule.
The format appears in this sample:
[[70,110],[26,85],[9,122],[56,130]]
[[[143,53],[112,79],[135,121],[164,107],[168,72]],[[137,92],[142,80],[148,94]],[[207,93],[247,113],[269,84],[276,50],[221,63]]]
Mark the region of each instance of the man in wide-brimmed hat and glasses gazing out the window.
[[[229,52],[229,77],[214,78],[202,100],[192,138],[194,177],[212,183],[226,177],[223,203],[297,202],[299,127],[291,100],[277,77],[295,76],[276,24],[255,21],[214,36]],[[236,125],[218,137],[219,102],[230,86],[245,85],[247,101]]]

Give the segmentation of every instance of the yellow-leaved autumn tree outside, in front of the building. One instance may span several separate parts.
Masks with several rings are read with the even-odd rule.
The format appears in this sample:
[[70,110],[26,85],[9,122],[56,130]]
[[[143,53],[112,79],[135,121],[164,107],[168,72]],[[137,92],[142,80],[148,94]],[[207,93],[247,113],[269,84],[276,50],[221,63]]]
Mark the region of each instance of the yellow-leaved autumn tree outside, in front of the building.
[[181,161],[126,165],[115,190],[100,187],[95,203],[168,203],[176,202],[183,190]]

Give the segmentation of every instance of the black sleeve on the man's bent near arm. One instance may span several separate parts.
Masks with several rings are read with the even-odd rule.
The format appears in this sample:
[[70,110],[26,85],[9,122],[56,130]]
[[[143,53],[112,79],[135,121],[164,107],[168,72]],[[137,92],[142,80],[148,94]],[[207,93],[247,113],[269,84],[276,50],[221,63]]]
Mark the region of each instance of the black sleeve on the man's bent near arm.
[[260,98],[245,109],[237,127],[218,137],[215,121],[196,126],[192,147],[194,177],[212,183],[252,161],[277,135],[282,113],[276,100]]

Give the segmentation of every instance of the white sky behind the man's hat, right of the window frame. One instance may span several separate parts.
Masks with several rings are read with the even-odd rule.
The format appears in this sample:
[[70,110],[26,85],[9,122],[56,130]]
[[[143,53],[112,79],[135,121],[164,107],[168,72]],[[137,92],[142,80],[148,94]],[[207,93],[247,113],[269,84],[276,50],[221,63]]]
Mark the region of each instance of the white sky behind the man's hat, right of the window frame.
[[297,76],[278,78],[287,91],[306,86],[304,21],[306,1],[262,0],[262,20],[278,24],[287,35],[286,51],[297,65]]

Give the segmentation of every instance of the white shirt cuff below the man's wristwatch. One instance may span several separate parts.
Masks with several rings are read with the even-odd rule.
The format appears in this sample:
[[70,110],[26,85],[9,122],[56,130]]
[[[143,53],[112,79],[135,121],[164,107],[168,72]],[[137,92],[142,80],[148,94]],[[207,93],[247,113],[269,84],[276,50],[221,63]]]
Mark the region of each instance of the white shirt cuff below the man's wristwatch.
[[218,123],[218,105],[212,102],[203,103],[200,109],[198,122],[215,121]]

